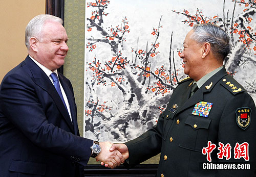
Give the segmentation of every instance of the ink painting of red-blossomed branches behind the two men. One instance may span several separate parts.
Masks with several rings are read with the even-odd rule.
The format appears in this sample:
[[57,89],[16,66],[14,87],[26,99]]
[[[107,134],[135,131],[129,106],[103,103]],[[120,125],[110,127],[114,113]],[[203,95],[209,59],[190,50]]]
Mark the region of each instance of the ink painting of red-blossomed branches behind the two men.
[[152,128],[187,77],[179,55],[198,23],[230,35],[223,64],[256,100],[255,13],[246,0],[86,0],[83,136],[124,142]]

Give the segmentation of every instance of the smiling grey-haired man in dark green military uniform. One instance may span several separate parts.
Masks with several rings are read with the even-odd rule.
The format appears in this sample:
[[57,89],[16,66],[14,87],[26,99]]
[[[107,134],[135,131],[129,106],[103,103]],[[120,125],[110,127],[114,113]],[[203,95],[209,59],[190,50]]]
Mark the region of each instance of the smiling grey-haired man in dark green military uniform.
[[[111,150],[123,154],[127,168],[161,153],[159,177],[253,176],[256,109],[222,65],[230,50],[228,35],[213,24],[198,24],[183,44],[180,57],[190,78],[173,91],[154,128]],[[221,162],[238,169],[226,170]],[[250,169],[239,169],[238,163],[249,163]]]

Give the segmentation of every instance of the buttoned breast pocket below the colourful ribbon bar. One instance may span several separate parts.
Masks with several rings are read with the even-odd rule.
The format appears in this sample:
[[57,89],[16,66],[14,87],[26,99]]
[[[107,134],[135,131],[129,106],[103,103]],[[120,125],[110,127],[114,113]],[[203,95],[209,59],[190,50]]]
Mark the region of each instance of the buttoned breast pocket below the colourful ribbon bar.
[[190,115],[187,117],[184,130],[181,132],[180,147],[202,151],[208,140],[211,119]]

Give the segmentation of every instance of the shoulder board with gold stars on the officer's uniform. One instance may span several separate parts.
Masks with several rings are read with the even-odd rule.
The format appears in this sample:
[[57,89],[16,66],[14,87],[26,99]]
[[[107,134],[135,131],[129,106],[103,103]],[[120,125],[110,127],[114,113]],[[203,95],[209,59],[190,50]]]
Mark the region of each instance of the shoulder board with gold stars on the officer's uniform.
[[230,91],[234,95],[245,91],[245,89],[233,79],[223,78],[221,85],[224,86],[228,91]]

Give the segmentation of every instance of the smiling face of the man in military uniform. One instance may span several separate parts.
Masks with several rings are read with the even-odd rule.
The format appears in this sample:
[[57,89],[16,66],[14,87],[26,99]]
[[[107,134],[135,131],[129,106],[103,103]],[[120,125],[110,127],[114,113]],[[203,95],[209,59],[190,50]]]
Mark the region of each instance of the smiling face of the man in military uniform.
[[184,73],[188,74],[190,78],[198,81],[201,78],[202,68],[202,45],[191,39],[193,30],[188,32],[183,43],[183,51],[180,57],[184,62]]

